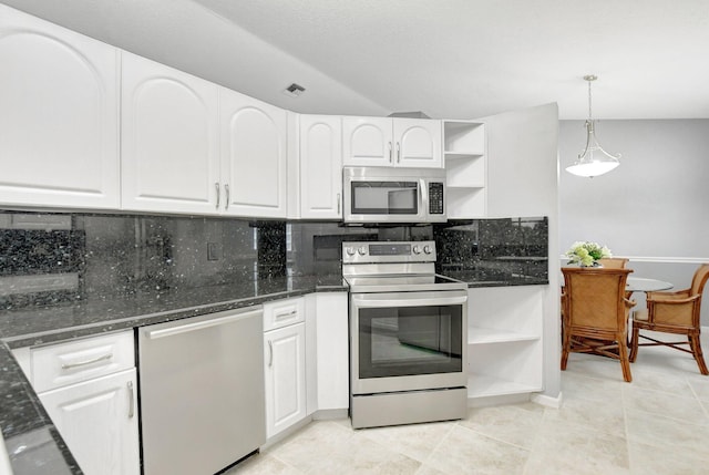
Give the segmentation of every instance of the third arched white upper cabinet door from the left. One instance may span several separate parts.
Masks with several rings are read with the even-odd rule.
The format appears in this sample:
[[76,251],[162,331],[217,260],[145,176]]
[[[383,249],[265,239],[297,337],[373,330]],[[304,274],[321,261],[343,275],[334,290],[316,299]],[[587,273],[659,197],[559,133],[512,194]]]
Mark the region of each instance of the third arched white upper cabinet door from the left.
[[226,89],[219,104],[225,213],[285,218],[286,111]]

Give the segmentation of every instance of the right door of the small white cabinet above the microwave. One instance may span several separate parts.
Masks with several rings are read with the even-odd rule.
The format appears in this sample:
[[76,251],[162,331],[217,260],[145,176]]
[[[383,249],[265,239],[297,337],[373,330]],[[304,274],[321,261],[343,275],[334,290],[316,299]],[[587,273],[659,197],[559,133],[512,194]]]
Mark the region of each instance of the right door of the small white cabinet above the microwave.
[[441,168],[441,122],[394,118],[394,164],[418,168]]

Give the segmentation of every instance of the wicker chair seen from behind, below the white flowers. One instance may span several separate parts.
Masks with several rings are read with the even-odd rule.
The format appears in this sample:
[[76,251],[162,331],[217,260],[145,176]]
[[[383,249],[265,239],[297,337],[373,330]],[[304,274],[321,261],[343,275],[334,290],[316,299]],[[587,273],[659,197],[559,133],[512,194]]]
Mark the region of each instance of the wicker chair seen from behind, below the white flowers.
[[623,379],[633,381],[628,358],[628,313],[635,301],[625,297],[633,269],[564,267],[562,370],[568,353],[593,353],[620,361]]

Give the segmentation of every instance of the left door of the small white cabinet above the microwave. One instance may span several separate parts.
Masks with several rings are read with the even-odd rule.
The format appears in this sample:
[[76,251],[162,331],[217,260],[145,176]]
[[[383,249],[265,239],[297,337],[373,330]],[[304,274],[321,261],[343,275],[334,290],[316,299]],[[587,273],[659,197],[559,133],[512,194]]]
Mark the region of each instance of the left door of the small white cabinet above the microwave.
[[342,117],[342,163],[392,166],[394,144],[391,118]]

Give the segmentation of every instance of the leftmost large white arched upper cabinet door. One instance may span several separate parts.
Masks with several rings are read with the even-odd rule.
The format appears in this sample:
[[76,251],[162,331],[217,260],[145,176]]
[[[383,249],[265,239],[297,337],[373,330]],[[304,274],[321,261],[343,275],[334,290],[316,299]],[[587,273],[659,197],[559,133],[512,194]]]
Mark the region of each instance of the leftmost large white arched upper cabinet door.
[[0,4],[0,204],[119,207],[117,50]]

